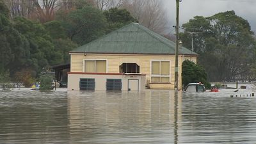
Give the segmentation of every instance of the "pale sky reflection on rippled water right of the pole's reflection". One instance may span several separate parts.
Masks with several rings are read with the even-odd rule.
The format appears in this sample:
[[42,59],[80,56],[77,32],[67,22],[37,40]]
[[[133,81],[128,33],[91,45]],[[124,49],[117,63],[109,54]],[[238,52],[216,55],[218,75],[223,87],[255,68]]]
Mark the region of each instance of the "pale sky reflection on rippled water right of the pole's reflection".
[[[182,143],[252,143],[255,99],[184,95]],[[185,137],[186,136],[186,137]]]

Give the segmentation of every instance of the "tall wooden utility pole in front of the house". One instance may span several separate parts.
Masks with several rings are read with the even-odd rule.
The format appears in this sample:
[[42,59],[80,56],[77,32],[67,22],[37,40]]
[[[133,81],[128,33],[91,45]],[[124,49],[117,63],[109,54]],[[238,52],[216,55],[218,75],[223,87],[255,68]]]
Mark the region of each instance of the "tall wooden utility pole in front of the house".
[[176,49],[175,49],[175,81],[174,81],[174,90],[178,90],[178,76],[179,76],[179,68],[178,68],[178,54],[179,54],[179,6],[181,0],[176,0]]

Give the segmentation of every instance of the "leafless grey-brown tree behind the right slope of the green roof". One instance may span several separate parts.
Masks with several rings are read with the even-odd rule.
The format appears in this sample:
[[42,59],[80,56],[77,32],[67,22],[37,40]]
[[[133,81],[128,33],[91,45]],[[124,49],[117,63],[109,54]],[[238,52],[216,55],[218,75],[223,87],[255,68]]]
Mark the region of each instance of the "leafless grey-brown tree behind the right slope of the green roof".
[[123,7],[131,12],[139,20],[139,23],[148,29],[157,33],[164,33],[164,30],[166,30],[167,20],[161,1],[127,0]]

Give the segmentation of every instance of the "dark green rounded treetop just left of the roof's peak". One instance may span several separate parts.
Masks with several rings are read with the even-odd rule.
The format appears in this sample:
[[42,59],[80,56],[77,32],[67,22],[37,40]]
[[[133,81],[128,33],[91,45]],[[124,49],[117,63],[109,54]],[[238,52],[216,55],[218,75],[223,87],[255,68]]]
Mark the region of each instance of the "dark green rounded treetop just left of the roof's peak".
[[108,27],[106,33],[114,31],[131,22],[138,22],[131,13],[125,9],[110,8],[103,13],[107,19]]

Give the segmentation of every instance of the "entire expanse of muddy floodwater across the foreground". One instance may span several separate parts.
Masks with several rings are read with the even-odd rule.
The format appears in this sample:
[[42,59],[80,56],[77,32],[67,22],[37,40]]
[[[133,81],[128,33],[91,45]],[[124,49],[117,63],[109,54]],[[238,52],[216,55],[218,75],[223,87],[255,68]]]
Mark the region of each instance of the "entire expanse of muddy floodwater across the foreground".
[[0,143],[256,143],[252,92],[0,92]]

